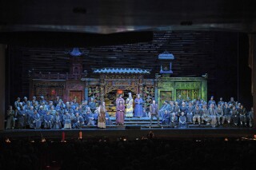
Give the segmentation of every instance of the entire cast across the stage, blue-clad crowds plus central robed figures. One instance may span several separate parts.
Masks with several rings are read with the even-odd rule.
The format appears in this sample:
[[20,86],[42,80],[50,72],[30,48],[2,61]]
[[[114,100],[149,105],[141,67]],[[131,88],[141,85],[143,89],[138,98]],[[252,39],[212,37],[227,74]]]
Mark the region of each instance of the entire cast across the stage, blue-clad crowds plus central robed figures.
[[[247,112],[246,108],[238,101],[234,101],[233,97],[228,102],[222,101],[221,97],[217,103],[214,97],[206,102],[202,99],[182,100],[179,96],[176,101],[164,101],[160,109],[153,100],[148,110],[143,108],[143,104],[144,101],[139,94],[133,99],[129,93],[126,101],[120,94],[116,99],[115,125],[124,125],[125,117],[150,117],[151,125],[156,117],[159,126],[161,120],[162,125],[171,128],[186,128],[189,124],[222,127],[225,123],[229,126],[253,126],[254,109],[251,108]],[[78,104],[76,99],[64,103],[59,97],[56,97],[55,101],[46,101],[44,97],[40,97],[39,101],[36,97],[33,97],[32,101],[24,97],[21,101],[18,97],[14,102],[14,108],[10,105],[6,113],[7,129],[15,126],[16,128],[82,128],[83,125],[98,126],[98,128],[113,125],[104,101],[96,102],[94,97],[91,97],[90,102],[82,101]]]

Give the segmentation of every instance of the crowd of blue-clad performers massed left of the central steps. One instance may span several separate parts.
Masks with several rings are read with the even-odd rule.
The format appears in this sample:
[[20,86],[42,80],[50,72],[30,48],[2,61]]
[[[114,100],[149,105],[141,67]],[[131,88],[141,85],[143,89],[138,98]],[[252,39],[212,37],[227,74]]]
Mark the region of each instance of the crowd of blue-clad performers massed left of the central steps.
[[[106,112],[106,125],[113,125],[110,115]],[[15,120],[18,122],[15,122]],[[24,101],[18,97],[14,102],[14,109],[10,105],[7,111],[6,128],[82,128],[82,126],[96,126],[98,123],[98,109],[94,101],[89,104],[82,101],[79,105],[76,99],[68,101],[66,104],[59,97],[55,101],[45,101],[41,97],[40,101],[33,97]]]

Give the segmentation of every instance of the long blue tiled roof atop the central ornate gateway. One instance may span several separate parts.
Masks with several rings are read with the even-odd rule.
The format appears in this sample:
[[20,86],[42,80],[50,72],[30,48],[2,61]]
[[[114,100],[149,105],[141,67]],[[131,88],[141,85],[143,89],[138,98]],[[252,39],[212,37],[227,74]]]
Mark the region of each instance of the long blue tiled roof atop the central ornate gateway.
[[150,73],[150,69],[138,69],[138,68],[103,68],[103,69],[94,69],[94,73],[147,74],[147,73]]

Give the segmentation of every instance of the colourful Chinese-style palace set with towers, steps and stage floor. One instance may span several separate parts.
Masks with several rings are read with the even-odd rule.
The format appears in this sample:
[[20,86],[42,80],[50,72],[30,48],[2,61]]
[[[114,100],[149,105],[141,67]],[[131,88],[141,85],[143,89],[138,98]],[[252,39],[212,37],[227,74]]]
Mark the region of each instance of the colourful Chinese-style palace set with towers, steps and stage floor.
[[[154,133],[158,139],[201,139],[201,138],[239,138],[254,136],[254,128],[238,128],[234,125],[212,127],[212,125],[201,124],[197,121],[187,123],[185,128],[170,127],[170,125],[158,125],[156,117],[150,124],[150,104],[156,101],[159,110],[165,101],[178,101],[182,99],[186,105],[190,101],[206,102],[207,104],[207,74],[202,77],[172,77],[172,60],[174,55],[165,51],[158,55],[162,60],[159,73],[154,78],[145,78],[150,74],[150,69],[140,68],[102,68],[93,69],[94,77],[87,77],[87,72],[82,68],[82,53],[74,48],[69,53],[69,73],[36,73],[29,71],[30,77],[30,99],[44,97],[45,101],[56,101],[58,96],[65,104],[66,101],[76,100],[80,105],[82,101],[106,102],[106,111],[110,114],[112,125],[106,125],[106,129],[98,129],[97,125],[82,125],[81,128],[73,129],[10,129],[0,132],[2,138],[33,138],[41,139],[42,136],[51,139],[76,139],[83,137],[87,139],[116,140],[120,137],[135,140],[143,139],[150,133]],[[97,78],[98,77],[98,78]],[[134,117],[134,111],[125,117],[124,125],[116,125],[116,99],[122,95],[124,100],[131,94],[133,100],[140,94],[143,101],[143,109],[146,117]],[[223,102],[224,103],[224,102]],[[202,107],[200,105],[200,107]],[[127,106],[127,105],[126,105]],[[179,104],[181,106],[181,104]],[[134,108],[134,103],[133,103]],[[163,118],[160,117],[160,122]]]

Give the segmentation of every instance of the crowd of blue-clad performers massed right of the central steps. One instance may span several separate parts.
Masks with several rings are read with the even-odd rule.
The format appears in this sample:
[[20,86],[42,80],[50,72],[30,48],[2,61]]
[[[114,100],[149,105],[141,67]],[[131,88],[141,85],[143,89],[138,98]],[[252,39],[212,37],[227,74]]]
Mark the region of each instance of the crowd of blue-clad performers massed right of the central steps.
[[178,97],[176,101],[165,101],[162,108],[159,109],[159,117],[162,118],[162,125],[170,127],[185,128],[189,124],[209,125],[211,127],[252,127],[254,119],[254,109],[250,112],[246,108],[234,101],[225,102],[222,97],[216,103],[214,97],[210,97],[208,103],[203,100],[181,100]]

